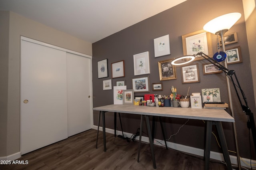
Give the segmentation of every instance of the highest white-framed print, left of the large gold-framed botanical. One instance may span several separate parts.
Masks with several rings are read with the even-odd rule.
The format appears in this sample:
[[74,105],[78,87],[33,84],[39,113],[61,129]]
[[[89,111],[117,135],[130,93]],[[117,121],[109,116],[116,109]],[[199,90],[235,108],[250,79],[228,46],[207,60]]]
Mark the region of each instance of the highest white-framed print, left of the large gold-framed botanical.
[[169,34],[154,39],[155,57],[170,54]]

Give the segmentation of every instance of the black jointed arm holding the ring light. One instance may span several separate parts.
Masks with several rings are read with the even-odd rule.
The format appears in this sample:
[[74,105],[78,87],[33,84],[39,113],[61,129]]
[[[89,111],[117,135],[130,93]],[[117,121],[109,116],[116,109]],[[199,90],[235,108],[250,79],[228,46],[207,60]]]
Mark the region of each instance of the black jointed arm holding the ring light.
[[[248,107],[247,99],[246,99],[246,97],[244,95],[244,92],[242,91],[242,88],[240,86],[240,83],[239,83],[239,81],[238,81],[238,79],[236,77],[236,72],[234,70],[227,69],[226,67],[224,67],[223,65],[221,65],[220,63],[218,63],[217,61],[215,61],[214,59],[212,59],[211,57],[209,57],[208,55],[206,55],[203,52],[199,52],[199,53],[196,54],[196,56],[197,55],[200,55],[204,59],[208,60],[210,63],[212,63],[213,65],[215,65],[219,69],[221,69],[226,74],[226,76],[230,77],[230,80],[232,81],[232,83],[234,85],[234,89],[236,91],[236,95],[238,97],[238,100],[240,102],[242,110],[248,116],[247,127],[248,127],[249,130],[250,129],[252,130],[252,138],[253,138],[254,149],[255,149],[255,153],[256,153],[256,127],[255,127],[254,116],[253,116],[252,111]],[[233,75],[234,75],[234,77],[236,79],[236,83],[234,82],[234,79],[232,77]],[[240,96],[238,94],[237,87],[238,87],[238,89],[240,89],[240,92],[242,94],[242,98],[244,99],[245,105],[242,104],[242,101],[241,101]]]

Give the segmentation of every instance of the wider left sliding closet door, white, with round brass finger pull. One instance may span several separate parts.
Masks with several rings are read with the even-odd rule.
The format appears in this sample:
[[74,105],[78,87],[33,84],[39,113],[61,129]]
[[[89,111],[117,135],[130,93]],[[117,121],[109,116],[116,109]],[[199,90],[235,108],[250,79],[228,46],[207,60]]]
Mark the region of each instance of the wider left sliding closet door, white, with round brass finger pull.
[[68,137],[66,52],[21,42],[21,154]]

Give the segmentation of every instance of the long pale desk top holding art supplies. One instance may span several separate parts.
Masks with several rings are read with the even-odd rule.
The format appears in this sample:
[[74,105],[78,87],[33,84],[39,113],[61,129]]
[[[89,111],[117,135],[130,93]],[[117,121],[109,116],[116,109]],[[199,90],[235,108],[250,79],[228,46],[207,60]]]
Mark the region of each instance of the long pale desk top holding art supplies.
[[198,119],[206,121],[235,122],[224,109],[191,109],[181,107],[150,107],[138,105],[106,105],[93,108],[94,111],[130,113],[161,117]]

